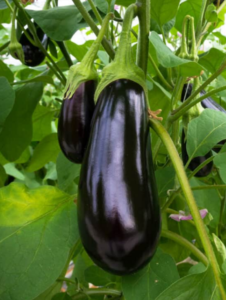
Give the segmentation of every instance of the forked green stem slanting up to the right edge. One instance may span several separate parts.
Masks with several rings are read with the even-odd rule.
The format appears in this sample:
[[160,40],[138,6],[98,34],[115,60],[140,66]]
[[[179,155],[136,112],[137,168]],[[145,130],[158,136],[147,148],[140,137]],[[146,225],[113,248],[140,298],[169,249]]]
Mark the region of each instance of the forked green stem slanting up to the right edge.
[[[172,112],[171,116],[169,117],[169,121],[174,122],[175,120],[180,118],[188,109],[190,109],[193,105],[195,105],[197,102],[200,102],[201,100],[207,98],[208,97],[207,95],[212,95],[213,93],[215,93],[213,91],[206,93],[205,95],[203,95],[202,97],[199,98],[199,99],[202,98],[200,101],[199,101],[199,99],[196,99],[195,101],[193,101],[194,104],[192,103],[192,105],[190,105],[192,99],[194,99],[195,96],[200,94],[200,92],[202,92],[202,90],[204,90],[205,87],[207,87],[207,85],[209,83],[211,83],[215,78],[217,78],[224,71],[225,68],[226,68],[226,62],[223,62],[221,67],[214,74],[212,74],[196,91],[194,91],[194,93],[190,97],[188,97],[188,99],[184,103],[182,103],[178,109],[176,109]],[[221,87],[219,89],[216,89],[215,91],[219,92],[224,89],[225,89],[225,87]],[[186,107],[186,110],[185,110],[185,107]]]

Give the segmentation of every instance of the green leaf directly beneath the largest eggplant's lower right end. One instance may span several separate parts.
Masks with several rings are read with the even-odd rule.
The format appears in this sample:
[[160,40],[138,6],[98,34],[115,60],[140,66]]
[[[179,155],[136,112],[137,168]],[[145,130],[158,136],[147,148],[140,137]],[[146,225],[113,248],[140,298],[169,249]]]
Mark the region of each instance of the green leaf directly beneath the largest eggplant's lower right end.
[[122,277],[122,290],[126,300],[152,300],[178,279],[174,260],[158,249],[147,267]]

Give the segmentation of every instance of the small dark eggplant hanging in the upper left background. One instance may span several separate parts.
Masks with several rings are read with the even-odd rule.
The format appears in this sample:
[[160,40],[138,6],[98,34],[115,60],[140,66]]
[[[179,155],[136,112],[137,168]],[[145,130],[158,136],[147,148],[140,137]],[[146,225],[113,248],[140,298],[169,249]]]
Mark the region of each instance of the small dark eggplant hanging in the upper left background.
[[[36,32],[41,41],[43,47],[47,50],[49,38],[48,36],[42,31],[40,27],[35,23]],[[29,29],[26,29],[27,33],[32,36],[32,33]],[[39,47],[34,46],[26,37],[25,33],[23,32],[20,40],[20,44],[22,45],[23,52],[24,52],[24,64],[29,67],[35,67],[40,65],[43,60],[45,59],[45,54],[41,51]]]

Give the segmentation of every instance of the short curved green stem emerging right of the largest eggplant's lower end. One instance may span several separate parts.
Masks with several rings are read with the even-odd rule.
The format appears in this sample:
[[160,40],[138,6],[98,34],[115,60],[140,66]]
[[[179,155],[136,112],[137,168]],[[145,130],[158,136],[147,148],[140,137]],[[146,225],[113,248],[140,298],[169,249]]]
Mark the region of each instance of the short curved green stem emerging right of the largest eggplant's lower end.
[[195,247],[192,243],[190,243],[188,240],[180,236],[179,234],[176,234],[172,231],[169,230],[164,230],[162,229],[161,235],[167,239],[170,239],[179,245],[187,248],[188,250],[191,251],[191,253],[197,257],[205,266],[208,266],[208,259],[207,257],[197,248]]

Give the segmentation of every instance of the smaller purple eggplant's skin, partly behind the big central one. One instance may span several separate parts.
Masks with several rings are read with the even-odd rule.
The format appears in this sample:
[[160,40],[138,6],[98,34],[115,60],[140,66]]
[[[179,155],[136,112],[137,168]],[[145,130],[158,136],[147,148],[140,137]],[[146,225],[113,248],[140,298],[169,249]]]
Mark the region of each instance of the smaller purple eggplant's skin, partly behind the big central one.
[[96,82],[86,81],[71,99],[63,101],[58,121],[58,140],[64,155],[72,162],[82,163],[90,135],[90,123],[95,109]]

